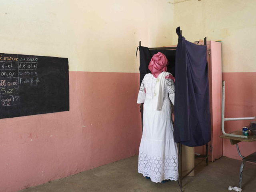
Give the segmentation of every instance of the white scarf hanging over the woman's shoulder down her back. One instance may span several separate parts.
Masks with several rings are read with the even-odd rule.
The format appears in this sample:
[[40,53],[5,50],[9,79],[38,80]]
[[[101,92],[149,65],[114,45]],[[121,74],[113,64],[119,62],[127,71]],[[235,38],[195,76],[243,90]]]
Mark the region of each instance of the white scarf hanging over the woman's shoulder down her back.
[[168,72],[162,72],[158,75],[156,79],[156,86],[153,96],[153,110],[160,111],[162,109],[164,101],[164,83],[165,77],[168,75]]

